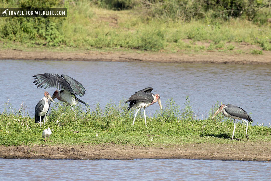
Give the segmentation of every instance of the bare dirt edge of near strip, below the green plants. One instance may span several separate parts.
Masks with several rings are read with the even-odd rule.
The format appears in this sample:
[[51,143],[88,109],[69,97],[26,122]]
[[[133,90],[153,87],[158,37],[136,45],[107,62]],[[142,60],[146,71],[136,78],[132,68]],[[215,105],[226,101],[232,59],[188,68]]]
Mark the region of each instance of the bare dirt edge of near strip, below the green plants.
[[271,143],[233,142],[232,144],[181,144],[140,147],[117,144],[0,146],[0,158],[20,159],[202,159],[270,161]]

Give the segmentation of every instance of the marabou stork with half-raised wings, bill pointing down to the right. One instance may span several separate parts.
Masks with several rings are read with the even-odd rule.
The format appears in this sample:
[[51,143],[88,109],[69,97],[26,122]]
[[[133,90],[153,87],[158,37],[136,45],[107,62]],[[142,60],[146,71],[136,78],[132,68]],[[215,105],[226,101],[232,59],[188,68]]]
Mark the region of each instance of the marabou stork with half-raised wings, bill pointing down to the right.
[[132,95],[131,97],[129,97],[129,99],[126,100],[125,103],[130,102],[128,110],[130,110],[132,107],[136,107],[138,109],[136,111],[135,118],[132,125],[134,125],[135,120],[136,120],[136,115],[141,108],[144,109],[144,118],[145,118],[146,126],[147,126],[146,107],[152,105],[153,103],[158,102],[161,110],[163,110],[159,94],[154,95],[151,93],[151,91],[152,91],[152,87],[147,87],[145,89],[137,91],[136,94]]

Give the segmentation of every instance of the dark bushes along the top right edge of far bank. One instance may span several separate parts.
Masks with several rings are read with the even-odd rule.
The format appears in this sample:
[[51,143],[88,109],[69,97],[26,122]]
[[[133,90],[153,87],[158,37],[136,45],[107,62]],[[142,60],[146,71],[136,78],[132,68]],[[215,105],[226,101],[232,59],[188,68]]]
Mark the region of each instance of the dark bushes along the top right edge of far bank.
[[[141,2],[143,4],[145,2],[153,17],[184,21],[202,18],[228,20],[232,17],[242,16],[253,20],[255,17],[259,17],[259,14],[263,14],[261,12],[263,8],[270,8],[269,0],[142,0]],[[269,13],[265,11],[265,15],[270,15],[270,11]]]

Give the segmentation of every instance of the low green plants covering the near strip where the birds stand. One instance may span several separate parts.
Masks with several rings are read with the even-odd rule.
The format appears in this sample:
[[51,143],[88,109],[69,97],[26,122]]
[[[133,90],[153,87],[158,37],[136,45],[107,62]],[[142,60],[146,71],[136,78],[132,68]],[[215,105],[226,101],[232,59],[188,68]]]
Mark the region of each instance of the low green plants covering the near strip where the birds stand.
[[[34,118],[19,110],[5,110],[0,114],[0,145],[44,144],[42,131],[54,129],[47,144],[99,144],[114,143],[128,145],[172,145],[183,143],[231,143],[233,131],[232,119],[222,114],[210,119],[219,104],[213,106],[206,119],[199,119],[187,102],[176,105],[168,100],[163,111],[153,117],[147,117],[145,126],[142,112],[135,125],[132,120],[135,111],[127,111],[124,100],[118,105],[108,103],[104,109],[97,104],[94,110],[77,106],[76,116],[66,105],[51,105],[46,125],[36,124]],[[157,106],[158,107],[158,106]],[[64,109],[66,108],[66,111]],[[65,113],[65,114],[62,114]],[[237,123],[234,138],[246,140],[245,124]],[[263,125],[248,126],[250,141],[271,141],[271,129]],[[237,140],[233,140],[237,141]]]

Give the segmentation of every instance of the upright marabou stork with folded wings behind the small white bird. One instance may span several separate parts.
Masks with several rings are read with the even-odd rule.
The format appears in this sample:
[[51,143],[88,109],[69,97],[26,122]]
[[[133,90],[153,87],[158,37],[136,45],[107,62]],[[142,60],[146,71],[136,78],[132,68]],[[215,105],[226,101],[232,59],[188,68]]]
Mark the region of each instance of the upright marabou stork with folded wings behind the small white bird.
[[55,103],[49,93],[47,91],[44,91],[44,97],[37,103],[35,107],[35,123],[40,122],[40,127],[43,119],[45,125],[46,114],[48,113],[48,110],[50,108],[51,101]]

